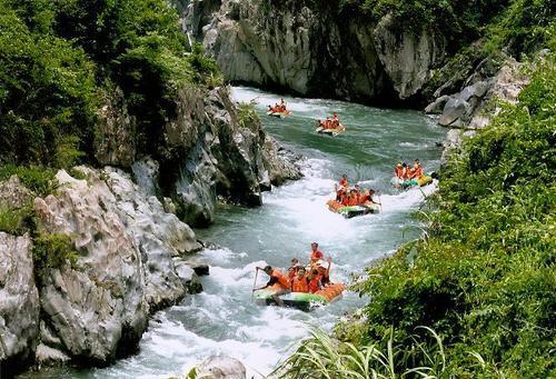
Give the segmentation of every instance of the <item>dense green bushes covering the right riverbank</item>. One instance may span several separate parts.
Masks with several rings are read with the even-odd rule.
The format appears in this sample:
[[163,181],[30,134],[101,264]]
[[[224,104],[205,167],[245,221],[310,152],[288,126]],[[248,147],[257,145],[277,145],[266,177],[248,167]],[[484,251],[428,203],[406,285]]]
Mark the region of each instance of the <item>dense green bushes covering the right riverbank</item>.
[[[536,63],[519,102],[504,106],[453,156],[425,215],[427,235],[356,285],[371,301],[360,322],[337,333],[357,351],[394,343],[398,375],[431,366],[441,367],[440,377],[556,375],[555,64],[554,52]],[[443,339],[441,362],[415,355],[415,335],[427,338],[420,326]],[[320,370],[330,368],[328,356],[307,355],[305,346],[295,362]],[[287,368],[298,377],[299,369]]]

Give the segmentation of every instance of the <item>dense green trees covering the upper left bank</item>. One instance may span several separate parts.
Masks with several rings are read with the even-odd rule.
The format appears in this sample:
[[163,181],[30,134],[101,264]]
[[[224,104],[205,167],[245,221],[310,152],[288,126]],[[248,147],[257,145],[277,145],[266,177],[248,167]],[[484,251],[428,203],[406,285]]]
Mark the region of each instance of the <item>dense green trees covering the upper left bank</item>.
[[115,88],[138,150],[151,152],[176,92],[218,79],[189,50],[163,0],[0,0],[0,163],[95,163],[98,110]]

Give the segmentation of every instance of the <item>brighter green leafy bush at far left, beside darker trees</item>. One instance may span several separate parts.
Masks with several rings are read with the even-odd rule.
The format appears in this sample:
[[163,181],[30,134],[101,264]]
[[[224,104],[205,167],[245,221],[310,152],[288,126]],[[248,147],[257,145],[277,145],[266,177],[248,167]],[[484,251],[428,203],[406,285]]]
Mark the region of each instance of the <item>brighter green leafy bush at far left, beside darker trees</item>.
[[90,138],[95,66],[81,49],[36,33],[0,1],[0,163],[52,163],[60,138]]

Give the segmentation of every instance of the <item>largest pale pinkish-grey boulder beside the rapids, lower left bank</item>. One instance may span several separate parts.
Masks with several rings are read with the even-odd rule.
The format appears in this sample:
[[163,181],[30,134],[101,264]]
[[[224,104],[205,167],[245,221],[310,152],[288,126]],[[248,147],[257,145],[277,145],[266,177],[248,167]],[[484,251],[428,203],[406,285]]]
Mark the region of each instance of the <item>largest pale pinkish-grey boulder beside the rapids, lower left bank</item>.
[[57,195],[36,199],[40,230],[70,236],[76,265],[44,269],[40,349],[42,362],[110,362],[133,351],[150,312],[186,295],[173,256],[197,250],[195,235],[163,211],[129,174],[61,170]]

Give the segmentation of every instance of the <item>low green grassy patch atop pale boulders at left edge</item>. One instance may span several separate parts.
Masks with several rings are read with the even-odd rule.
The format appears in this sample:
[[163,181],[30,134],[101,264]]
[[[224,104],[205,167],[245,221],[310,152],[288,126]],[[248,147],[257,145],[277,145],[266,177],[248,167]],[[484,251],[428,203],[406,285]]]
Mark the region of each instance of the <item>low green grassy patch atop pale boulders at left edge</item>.
[[0,181],[9,179],[13,174],[18,176],[24,187],[40,197],[54,193],[58,188],[58,181],[54,178],[56,170],[47,167],[0,166]]

